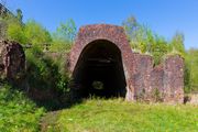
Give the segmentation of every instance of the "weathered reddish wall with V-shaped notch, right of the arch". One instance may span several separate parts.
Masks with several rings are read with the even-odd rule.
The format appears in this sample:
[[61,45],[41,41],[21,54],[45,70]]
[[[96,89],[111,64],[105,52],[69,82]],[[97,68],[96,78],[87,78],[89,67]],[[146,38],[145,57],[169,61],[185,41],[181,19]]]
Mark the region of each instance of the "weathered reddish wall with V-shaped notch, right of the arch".
[[135,99],[146,101],[184,101],[184,61],[178,55],[167,56],[154,67],[152,56],[134,54]]

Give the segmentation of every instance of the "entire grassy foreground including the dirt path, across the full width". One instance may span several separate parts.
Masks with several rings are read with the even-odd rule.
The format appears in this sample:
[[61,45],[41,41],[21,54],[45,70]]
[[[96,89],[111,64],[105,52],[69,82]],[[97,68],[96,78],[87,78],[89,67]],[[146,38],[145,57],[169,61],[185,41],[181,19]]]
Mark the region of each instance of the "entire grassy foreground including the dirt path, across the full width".
[[[197,132],[198,106],[88,99],[46,113],[23,92],[0,88],[0,132]],[[42,123],[42,128],[40,128]]]

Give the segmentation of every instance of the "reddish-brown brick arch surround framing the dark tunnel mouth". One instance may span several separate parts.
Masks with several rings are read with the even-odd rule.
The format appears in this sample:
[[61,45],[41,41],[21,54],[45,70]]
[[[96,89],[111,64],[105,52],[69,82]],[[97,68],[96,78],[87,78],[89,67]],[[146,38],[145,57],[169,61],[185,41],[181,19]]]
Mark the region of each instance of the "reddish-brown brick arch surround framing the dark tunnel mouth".
[[128,100],[134,99],[133,88],[133,55],[124,33],[123,28],[109,24],[94,24],[80,28],[75,44],[69,54],[69,69],[74,74],[75,67],[80,54],[88,44],[96,40],[106,40],[114,44],[120,50],[120,55],[123,64],[124,76],[127,80],[127,94]]

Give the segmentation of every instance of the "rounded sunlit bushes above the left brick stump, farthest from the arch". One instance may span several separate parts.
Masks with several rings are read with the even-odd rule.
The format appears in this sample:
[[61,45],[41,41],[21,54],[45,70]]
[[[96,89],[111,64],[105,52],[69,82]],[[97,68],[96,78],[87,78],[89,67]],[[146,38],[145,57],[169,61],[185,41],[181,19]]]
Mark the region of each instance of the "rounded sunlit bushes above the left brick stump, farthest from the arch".
[[6,16],[2,20],[7,24],[7,38],[19,42],[20,44],[33,44],[43,48],[44,44],[51,44],[50,32],[34,20],[29,20],[25,24],[22,22],[22,11],[16,10],[16,16]]

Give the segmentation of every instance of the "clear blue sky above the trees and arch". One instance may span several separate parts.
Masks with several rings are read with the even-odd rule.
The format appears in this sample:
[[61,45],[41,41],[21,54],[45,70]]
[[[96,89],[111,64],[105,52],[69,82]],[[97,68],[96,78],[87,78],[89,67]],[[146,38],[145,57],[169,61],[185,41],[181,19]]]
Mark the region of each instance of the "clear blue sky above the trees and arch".
[[185,47],[198,48],[198,0],[1,0],[9,10],[23,11],[23,21],[34,19],[51,32],[73,19],[86,24],[121,25],[130,15],[156,34],[170,40],[185,34]]

